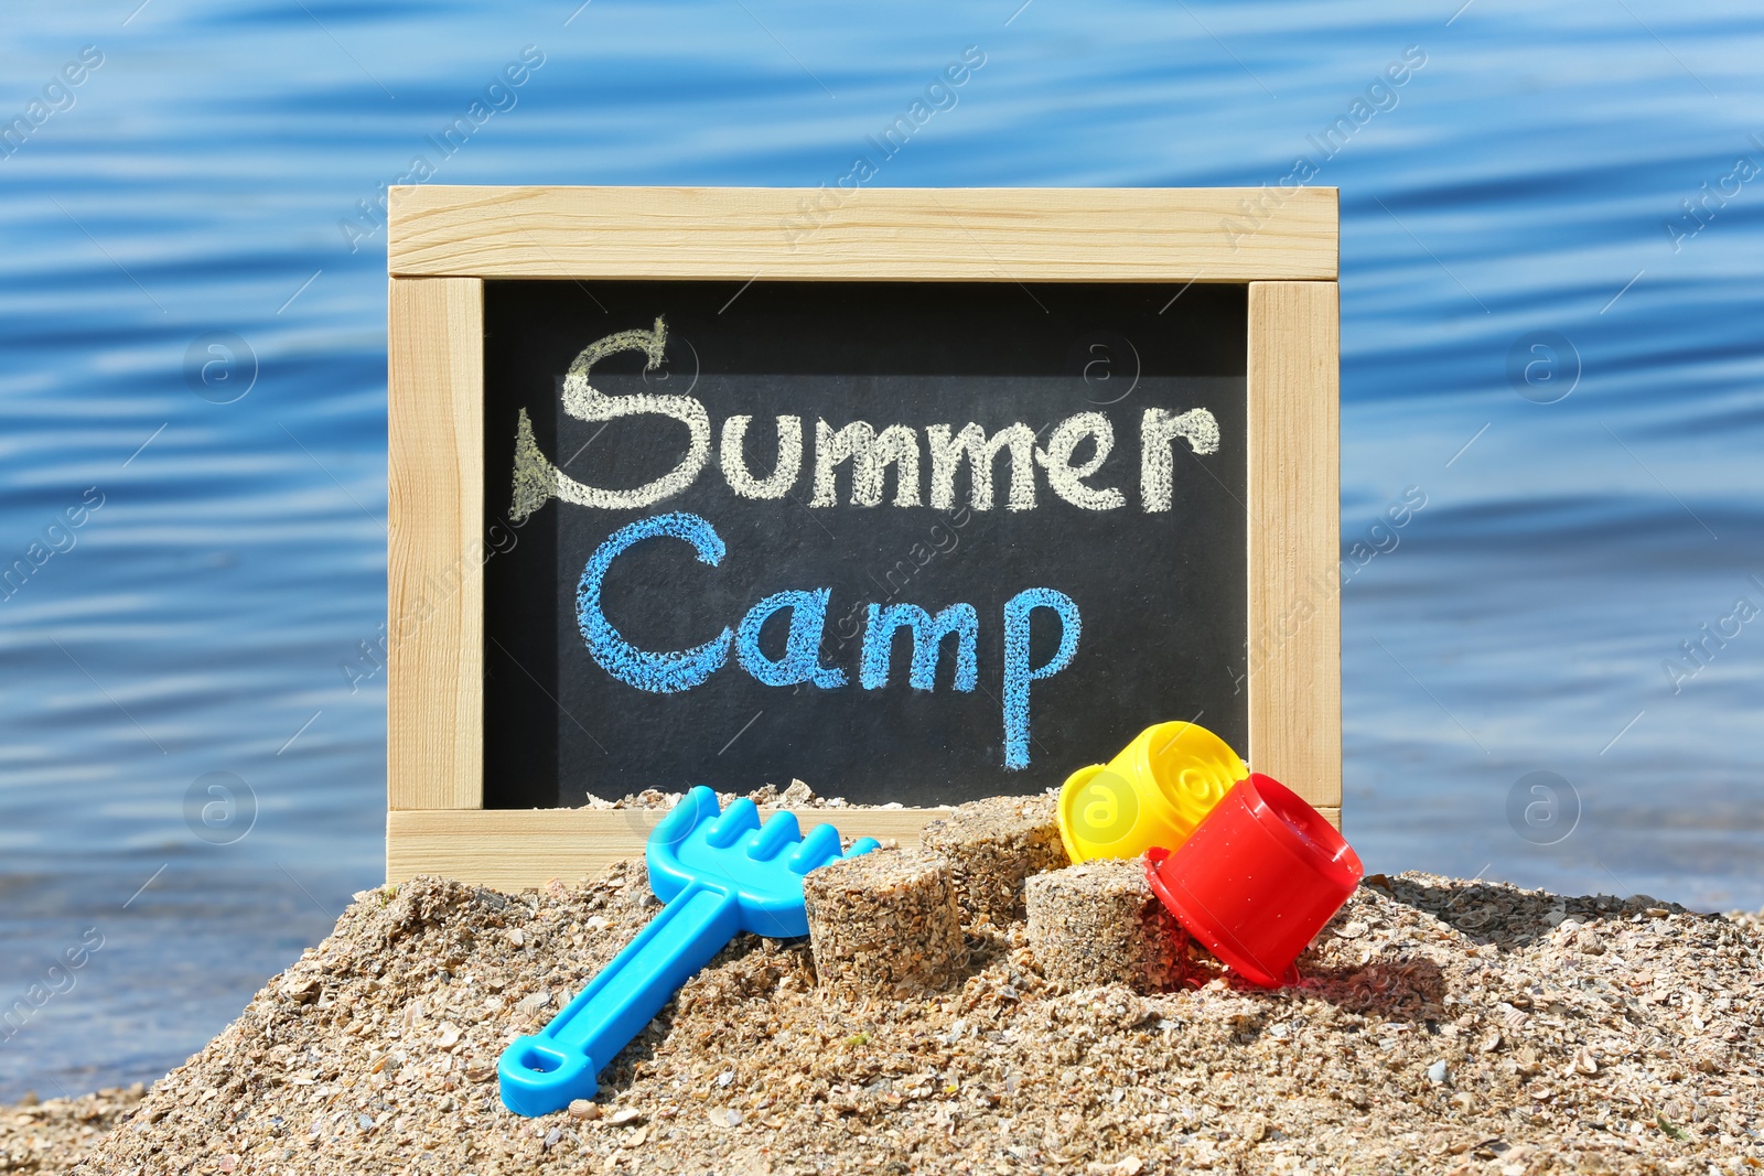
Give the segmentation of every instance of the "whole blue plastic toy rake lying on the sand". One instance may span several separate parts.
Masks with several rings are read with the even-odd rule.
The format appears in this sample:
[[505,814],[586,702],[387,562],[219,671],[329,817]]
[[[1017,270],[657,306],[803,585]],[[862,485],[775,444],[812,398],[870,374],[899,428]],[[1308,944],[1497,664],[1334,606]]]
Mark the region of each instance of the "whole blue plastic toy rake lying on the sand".
[[[863,837],[843,857],[877,845]],[[550,1024],[503,1051],[496,1072],[503,1105],[515,1114],[550,1114],[591,1098],[600,1068],[737,931],[808,934],[803,875],[841,853],[833,825],[815,825],[804,837],[794,815],[776,813],[760,829],[751,800],[718,813],[716,793],[693,788],[649,834],[644,857],[649,889],[667,906]]]

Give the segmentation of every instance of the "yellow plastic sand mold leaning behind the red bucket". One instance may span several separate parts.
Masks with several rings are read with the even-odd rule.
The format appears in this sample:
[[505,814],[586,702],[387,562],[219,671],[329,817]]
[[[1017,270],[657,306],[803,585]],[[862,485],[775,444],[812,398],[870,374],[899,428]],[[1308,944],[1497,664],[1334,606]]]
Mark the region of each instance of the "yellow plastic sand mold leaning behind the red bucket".
[[1249,776],[1231,746],[1194,723],[1147,726],[1108,763],[1060,788],[1060,841],[1074,862],[1175,850]]

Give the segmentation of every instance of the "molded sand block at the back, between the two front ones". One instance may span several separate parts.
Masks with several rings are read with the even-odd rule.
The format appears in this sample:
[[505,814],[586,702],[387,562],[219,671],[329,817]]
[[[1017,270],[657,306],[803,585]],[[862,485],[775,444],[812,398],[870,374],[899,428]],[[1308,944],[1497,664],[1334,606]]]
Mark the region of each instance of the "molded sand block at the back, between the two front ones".
[[1023,880],[1069,860],[1055,797],[990,797],[961,804],[919,834],[919,845],[949,859],[956,901],[968,922],[1005,926],[1023,919]]

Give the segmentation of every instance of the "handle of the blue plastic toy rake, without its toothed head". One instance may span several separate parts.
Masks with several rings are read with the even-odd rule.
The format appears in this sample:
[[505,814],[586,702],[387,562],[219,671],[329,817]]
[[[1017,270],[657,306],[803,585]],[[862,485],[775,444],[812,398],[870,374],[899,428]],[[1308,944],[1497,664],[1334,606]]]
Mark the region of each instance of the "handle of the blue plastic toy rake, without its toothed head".
[[674,991],[741,929],[732,890],[690,883],[538,1033],[497,1061],[503,1104],[526,1116],[593,1098],[594,1076],[662,1012]]

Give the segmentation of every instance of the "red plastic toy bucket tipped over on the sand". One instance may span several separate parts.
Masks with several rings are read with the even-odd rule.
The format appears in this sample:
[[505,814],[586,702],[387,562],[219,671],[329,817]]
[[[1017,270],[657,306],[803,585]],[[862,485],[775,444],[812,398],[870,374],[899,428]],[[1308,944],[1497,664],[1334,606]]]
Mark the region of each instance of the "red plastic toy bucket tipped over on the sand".
[[1254,772],[1145,875],[1196,940],[1251,984],[1297,984],[1293,961],[1348,901],[1358,855],[1286,785]]

